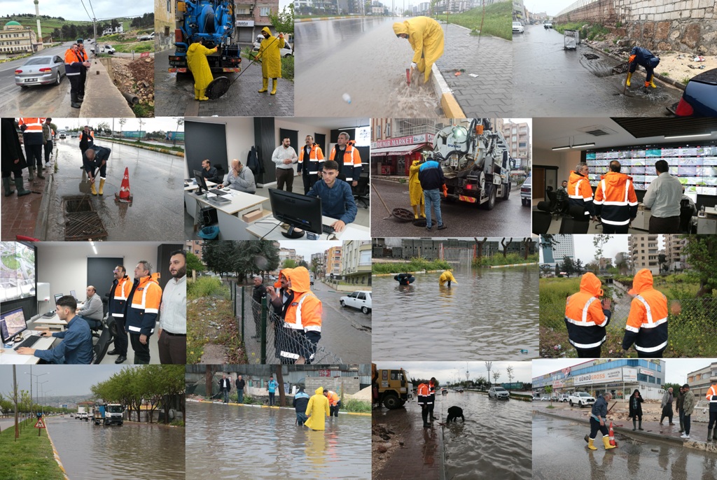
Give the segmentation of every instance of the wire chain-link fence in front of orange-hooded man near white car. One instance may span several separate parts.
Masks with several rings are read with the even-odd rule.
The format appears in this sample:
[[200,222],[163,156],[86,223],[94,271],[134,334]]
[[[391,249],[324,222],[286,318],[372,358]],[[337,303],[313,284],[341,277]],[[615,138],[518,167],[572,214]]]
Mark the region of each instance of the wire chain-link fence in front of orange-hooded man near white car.
[[250,287],[236,285],[232,290],[238,329],[244,339],[249,363],[343,363],[340,357],[320,345],[320,340],[313,341],[313,335],[284,327],[282,312],[272,307],[268,297],[257,302],[252,298]]

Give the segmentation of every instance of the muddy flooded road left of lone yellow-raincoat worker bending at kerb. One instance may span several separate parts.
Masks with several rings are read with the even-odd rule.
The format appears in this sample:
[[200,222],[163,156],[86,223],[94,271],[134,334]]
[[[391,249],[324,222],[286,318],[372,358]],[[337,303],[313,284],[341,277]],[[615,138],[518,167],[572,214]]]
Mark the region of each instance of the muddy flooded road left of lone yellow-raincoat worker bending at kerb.
[[[413,50],[392,29],[399,18],[296,24],[295,115],[436,117],[432,87],[406,84]],[[351,103],[343,100],[348,93]],[[318,110],[317,110],[318,109]]]

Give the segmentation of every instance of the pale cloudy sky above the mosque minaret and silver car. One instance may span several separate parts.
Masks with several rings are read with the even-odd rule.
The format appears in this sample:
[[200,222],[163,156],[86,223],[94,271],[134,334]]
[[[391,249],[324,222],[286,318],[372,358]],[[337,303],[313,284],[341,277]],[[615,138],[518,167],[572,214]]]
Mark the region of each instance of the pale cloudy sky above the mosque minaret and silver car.
[[[82,8],[84,2],[85,8]],[[40,0],[40,15],[62,16],[65,20],[86,20],[92,18],[92,11],[97,19],[113,19],[120,16],[141,16],[154,11],[151,1],[116,1],[116,0]],[[32,0],[2,0],[0,14],[34,14]]]

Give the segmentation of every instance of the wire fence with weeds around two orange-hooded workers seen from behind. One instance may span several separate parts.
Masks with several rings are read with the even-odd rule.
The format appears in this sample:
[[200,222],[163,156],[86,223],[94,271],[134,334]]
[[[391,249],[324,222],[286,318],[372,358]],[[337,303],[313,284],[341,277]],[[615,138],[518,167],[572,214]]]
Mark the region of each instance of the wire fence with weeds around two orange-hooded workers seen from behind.
[[[602,345],[603,357],[636,357],[635,347],[622,350],[622,338],[630,315],[630,297],[612,304],[607,326],[607,341]],[[565,326],[565,303],[543,302],[540,305],[541,357],[576,357],[568,342]],[[663,357],[711,357],[717,352],[717,302],[703,299],[670,300],[668,314],[668,347]]]

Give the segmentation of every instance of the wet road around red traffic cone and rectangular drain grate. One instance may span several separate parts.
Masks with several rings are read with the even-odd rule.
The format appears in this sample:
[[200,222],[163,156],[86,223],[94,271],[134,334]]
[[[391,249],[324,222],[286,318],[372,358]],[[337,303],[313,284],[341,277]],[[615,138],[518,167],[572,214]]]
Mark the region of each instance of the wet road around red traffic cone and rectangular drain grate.
[[[110,148],[107,163],[107,180],[104,195],[88,195],[103,226],[108,231],[105,240],[179,240],[184,239],[182,182],[184,163],[181,157],[134,148],[129,145],[105,142],[96,144]],[[58,140],[58,171],[54,173],[52,198],[47,216],[47,235],[44,240],[65,240],[65,214],[63,199],[83,196],[90,191],[90,183],[83,181],[82,153],[77,139]],[[115,202],[115,193],[129,168],[130,193],[133,203]],[[95,182],[99,188],[100,181]]]

